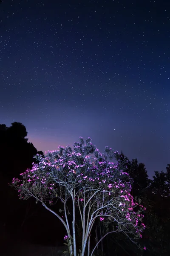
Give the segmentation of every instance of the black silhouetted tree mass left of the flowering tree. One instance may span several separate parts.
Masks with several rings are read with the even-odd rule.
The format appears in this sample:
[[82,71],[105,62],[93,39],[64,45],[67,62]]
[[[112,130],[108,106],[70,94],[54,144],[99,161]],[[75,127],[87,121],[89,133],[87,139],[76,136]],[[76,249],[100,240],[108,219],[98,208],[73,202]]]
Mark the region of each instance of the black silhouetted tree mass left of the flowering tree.
[[32,163],[36,163],[34,155],[43,155],[26,137],[26,127],[19,122],[10,127],[0,125],[0,238],[6,246],[9,241],[15,243],[15,239],[20,242],[21,238],[30,243],[54,243],[56,236],[51,239],[49,234],[57,227],[61,230],[60,222],[53,215],[32,198],[20,201],[18,192],[8,185],[13,177],[19,178],[20,173],[32,168]]

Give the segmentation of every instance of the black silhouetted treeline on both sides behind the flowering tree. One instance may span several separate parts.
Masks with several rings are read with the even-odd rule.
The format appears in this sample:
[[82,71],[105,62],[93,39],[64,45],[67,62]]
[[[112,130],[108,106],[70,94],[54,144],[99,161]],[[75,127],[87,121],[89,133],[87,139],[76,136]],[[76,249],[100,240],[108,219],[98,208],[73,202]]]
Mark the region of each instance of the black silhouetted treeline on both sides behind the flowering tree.
[[[17,192],[8,185],[13,177],[31,169],[32,163],[36,163],[34,155],[43,156],[26,137],[26,127],[19,122],[10,127],[0,125],[0,240],[3,245],[0,250],[6,250],[9,244],[24,242],[58,246],[63,244],[65,236],[55,216],[35,204],[34,199],[20,201]],[[133,197],[141,198],[141,204],[146,207],[144,224],[147,228],[140,244],[147,249],[140,251],[122,234],[114,234],[103,240],[105,254],[101,252],[101,255],[170,255],[170,164],[165,172],[155,171],[150,180],[144,163],[138,163],[137,159],[129,161],[123,152],[119,157],[122,163],[127,162],[127,172],[133,178]]]

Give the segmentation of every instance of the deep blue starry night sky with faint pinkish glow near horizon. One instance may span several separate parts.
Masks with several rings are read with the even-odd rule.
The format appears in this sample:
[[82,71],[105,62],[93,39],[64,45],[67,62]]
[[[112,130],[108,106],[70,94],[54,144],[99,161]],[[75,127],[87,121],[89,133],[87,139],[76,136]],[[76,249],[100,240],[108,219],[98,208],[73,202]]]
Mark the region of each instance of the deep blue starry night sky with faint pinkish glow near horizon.
[[169,0],[3,0],[0,124],[43,152],[91,137],[170,163]]

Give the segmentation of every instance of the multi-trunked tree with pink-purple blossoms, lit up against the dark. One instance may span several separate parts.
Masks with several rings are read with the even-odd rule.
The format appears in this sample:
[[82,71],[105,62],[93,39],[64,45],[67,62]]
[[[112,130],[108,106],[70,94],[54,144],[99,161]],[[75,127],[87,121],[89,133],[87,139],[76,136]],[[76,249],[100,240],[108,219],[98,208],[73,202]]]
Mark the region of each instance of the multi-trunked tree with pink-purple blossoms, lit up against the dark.
[[[21,173],[21,179],[13,178],[11,186],[19,192],[20,199],[34,197],[43,207],[56,215],[67,232],[70,255],[77,256],[76,211],[79,212],[82,227],[80,256],[92,256],[99,242],[109,233],[123,232],[131,241],[142,237],[145,225],[142,223],[144,207],[133,201],[130,194],[130,178],[121,163],[112,163],[118,151],[105,147],[105,155],[91,143],[91,138],[79,138],[74,149],[59,146],[57,151],[45,152],[45,158],[37,154],[39,163]],[[92,156],[92,154],[94,156]],[[63,203],[61,210],[51,209],[57,200]],[[72,227],[68,221],[68,201],[71,200]],[[96,221],[113,224],[90,250],[91,230]],[[145,248],[144,248],[145,249]]]

